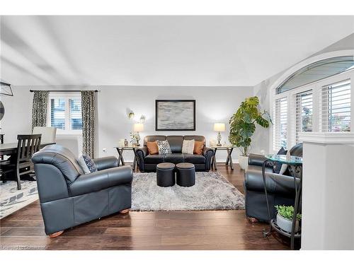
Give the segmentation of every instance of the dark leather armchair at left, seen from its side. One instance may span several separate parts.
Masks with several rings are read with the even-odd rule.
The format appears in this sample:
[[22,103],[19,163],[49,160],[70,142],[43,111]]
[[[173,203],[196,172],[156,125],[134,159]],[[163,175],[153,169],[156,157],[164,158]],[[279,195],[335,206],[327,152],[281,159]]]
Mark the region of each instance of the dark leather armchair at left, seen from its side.
[[74,154],[45,146],[32,157],[47,235],[131,206],[132,168],[115,157],[98,158],[97,172],[84,174]]

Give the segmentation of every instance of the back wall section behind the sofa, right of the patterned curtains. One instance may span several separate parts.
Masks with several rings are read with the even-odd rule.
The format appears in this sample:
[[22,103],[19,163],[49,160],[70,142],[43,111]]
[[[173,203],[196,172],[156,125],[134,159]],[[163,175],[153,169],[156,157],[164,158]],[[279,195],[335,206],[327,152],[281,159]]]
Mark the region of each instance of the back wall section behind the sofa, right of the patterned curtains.
[[[116,155],[114,146],[119,139],[130,139],[132,126],[142,114],[146,117],[142,139],[146,135],[187,135],[198,134],[216,139],[213,131],[215,122],[224,122],[229,129],[229,117],[239,107],[244,98],[253,93],[249,87],[103,87],[98,93],[98,133],[99,155]],[[156,99],[191,99],[195,100],[195,131],[155,131]],[[104,107],[103,107],[104,106]],[[135,121],[127,118],[127,110],[135,112]],[[222,133],[222,142],[227,141],[227,131]],[[228,142],[228,141],[227,141]],[[102,148],[107,148],[106,154]],[[233,158],[236,162],[238,151]],[[126,160],[132,159],[132,153],[126,153]],[[218,160],[226,159],[226,151],[217,153]]]

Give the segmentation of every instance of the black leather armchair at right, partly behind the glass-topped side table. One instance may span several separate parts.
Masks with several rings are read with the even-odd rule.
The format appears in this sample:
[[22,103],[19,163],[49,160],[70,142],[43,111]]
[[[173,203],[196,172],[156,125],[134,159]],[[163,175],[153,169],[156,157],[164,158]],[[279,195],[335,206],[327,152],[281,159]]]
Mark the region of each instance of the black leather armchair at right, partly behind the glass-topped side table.
[[[302,143],[293,146],[290,154],[302,157]],[[244,191],[246,216],[260,221],[269,221],[267,203],[265,201],[262,165],[266,158],[263,155],[249,155],[249,167],[244,173]],[[299,179],[297,179],[297,182]],[[294,206],[294,178],[286,170],[283,175],[273,172],[273,167],[265,167],[265,183],[270,206],[270,218],[275,218],[275,205]]]

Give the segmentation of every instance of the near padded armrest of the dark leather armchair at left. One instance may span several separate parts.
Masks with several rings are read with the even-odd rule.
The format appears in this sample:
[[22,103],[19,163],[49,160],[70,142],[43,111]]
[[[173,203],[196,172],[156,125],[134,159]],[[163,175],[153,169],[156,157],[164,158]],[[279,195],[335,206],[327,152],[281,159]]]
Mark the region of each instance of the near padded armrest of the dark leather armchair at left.
[[69,192],[71,196],[78,196],[131,183],[132,167],[125,165],[81,175],[69,186]]

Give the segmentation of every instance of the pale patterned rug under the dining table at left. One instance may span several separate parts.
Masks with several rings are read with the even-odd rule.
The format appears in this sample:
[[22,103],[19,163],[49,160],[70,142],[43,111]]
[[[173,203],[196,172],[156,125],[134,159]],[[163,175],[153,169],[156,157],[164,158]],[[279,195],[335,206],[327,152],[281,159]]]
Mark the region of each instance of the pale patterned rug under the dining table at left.
[[8,180],[0,185],[0,219],[38,200],[37,182],[21,180],[21,190],[17,182]]

